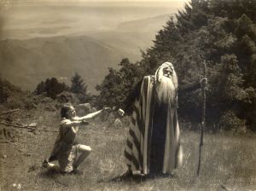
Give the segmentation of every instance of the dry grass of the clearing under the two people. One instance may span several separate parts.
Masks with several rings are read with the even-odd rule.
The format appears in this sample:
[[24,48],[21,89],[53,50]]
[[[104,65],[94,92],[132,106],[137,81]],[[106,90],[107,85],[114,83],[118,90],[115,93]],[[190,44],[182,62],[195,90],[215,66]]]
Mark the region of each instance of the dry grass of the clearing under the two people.
[[[40,129],[54,130],[60,121],[58,113],[44,110],[18,115],[24,123],[38,122]],[[182,130],[184,161],[176,171],[177,177],[116,181],[115,177],[125,172],[123,150],[128,126],[117,128],[107,122],[95,123],[79,130],[82,142],[93,149],[80,167],[83,175],[62,176],[41,168],[55,142],[55,133],[11,129],[15,142],[0,143],[0,190],[17,190],[13,183],[20,183],[20,190],[224,190],[221,185],[232,190],[256,189],[253,137],[207,134],[201,175],[196,178],[200,135]]]

